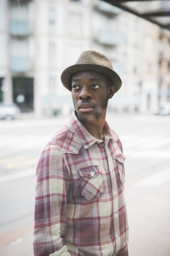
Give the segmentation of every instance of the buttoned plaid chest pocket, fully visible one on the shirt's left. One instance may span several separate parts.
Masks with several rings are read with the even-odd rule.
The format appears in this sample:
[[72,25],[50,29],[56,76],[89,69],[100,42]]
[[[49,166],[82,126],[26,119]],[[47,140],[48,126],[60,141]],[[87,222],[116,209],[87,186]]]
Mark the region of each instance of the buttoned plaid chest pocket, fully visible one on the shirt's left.
[[81,177],[81,192],[87,200],[98,198],[104,192],[102,171],[99,166],[89,166],[79,169]]

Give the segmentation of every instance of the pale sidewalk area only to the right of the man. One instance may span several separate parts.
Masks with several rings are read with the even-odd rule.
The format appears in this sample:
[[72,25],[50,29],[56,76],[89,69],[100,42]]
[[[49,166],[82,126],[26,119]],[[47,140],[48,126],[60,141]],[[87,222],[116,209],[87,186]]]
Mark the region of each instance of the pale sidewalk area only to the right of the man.
[[170,168],[126,184],[129,256],[170,256],[169,197]]

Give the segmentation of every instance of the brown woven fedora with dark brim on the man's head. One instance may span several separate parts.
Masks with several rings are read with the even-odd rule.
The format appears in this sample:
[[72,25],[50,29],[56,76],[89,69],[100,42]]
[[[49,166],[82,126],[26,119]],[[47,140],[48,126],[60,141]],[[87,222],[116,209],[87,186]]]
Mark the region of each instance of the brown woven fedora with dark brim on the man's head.
[[118,74],[113,70],[111,61],[104,54],[96,51],[84,51],[79,56],[76,63],[67,67],[61,74],[61,82],[69,91],[72,91],[71,76],[78,71],[98,71],[111,78],[116,92],[120,89],[122,81]]

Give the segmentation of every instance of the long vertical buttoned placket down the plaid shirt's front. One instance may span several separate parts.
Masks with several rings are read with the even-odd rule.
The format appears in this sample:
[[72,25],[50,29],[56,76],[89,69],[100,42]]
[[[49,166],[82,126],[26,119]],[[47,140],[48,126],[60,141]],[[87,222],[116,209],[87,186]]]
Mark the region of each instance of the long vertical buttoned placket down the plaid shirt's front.
[[116,173],[114,169],[113,158],[107,146],[108,141],[109,141],[109,137],[106,136],[105,150],[106,150],[107,159],[108,159],[109,173],[111,177],[111,191],[112,191],[112,198],[113,198],[112,207],[113,207],[113,224],[114,224],[114,237],[115,237],[115,251],[113,256],[115,256],[120,250],[120,245],[121,245],[120,230],[119,230],[119,202],[118,202],[118,187],[117,187],[117,181],[116,181]]

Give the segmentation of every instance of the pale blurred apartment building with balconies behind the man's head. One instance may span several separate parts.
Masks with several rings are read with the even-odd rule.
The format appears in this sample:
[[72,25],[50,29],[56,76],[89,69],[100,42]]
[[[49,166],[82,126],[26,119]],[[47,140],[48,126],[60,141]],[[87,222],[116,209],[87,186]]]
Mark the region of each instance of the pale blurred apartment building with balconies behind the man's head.
[[87,49],[122,78],[110,111],[153,113],[170,101],[170,31],[99,0],[0,0],[0,101],[68,115],[61,72]]

